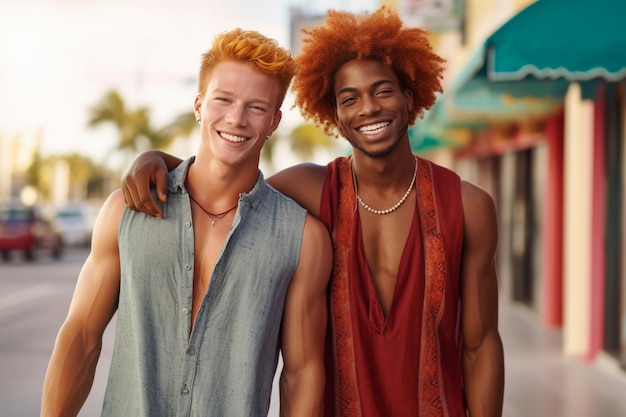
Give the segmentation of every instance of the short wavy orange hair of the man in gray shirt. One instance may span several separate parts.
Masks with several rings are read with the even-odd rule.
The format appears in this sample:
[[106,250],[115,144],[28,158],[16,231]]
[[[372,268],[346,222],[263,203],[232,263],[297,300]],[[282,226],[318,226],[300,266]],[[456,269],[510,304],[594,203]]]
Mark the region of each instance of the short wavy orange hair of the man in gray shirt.
[[276,77],[280,87],[276,110],[283,104],[296,72],[291,53],[278,45],[276,40],[256,31],[238,28],[216,36],[211,49],[202,55],[198,82],[200,94],[205,92],[213,68],[222,61],[250,64],[256,70]]

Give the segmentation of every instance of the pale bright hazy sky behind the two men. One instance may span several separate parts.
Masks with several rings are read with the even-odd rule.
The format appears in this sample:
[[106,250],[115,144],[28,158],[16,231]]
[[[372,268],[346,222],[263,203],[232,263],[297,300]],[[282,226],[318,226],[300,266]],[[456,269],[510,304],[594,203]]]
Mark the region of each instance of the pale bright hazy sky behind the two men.
[[[0,137],[39,135],[41,152],[102,162],[112,127],[87,128],[115,88],[156,126],[192,108],[213,37],[254,29],[289,47],[289,9],[373,10],[378,0],[0,0]],[[301,121],[286,111],[282,128]],[[191,152],[191,150],[190,150]],[[182,155],[184,156],[184,155]]]

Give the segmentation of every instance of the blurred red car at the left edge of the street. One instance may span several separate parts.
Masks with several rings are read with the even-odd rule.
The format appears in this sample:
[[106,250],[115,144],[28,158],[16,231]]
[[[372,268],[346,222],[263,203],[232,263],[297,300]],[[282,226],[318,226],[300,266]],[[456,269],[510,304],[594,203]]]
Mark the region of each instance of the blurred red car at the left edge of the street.
[[9,260],[12,251],[20,251],[32,261],[46,252],[55,259],[63,254],[63,239],[52,223],[34,206],[0,204],[0,252]]

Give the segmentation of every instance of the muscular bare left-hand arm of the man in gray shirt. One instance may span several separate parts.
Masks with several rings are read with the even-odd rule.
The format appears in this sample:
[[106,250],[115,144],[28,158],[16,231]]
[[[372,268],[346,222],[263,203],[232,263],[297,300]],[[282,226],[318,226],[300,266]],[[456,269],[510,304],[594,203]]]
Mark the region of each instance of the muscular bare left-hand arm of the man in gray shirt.
[[76,416],[91,390],[102,335],[117,308],[117,229],[123,209],[124,197],[117,191],[98,215],[91,253],[81,269],[46,372],[42,417]]

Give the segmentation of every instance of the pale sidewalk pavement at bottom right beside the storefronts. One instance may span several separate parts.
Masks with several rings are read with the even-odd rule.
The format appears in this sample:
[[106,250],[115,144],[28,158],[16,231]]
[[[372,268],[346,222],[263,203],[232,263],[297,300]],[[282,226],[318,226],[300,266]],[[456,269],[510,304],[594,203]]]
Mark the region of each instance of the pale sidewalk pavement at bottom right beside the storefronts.
[[626,417],[626,371],[612,358],[566,358],[560,329],[544,329],[525,306],[503,302],[504,417]]

